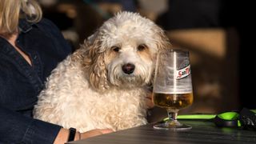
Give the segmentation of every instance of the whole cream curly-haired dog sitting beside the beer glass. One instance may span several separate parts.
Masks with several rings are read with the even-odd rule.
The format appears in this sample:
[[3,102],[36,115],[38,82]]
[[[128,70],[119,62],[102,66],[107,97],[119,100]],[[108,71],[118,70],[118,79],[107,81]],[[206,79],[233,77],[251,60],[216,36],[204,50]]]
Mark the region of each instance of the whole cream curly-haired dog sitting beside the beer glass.
[[116,14],[53,70],[34,118],[80,132],[146,124],[146,86],[158,50],[167,47],[168,38],[154,22]]

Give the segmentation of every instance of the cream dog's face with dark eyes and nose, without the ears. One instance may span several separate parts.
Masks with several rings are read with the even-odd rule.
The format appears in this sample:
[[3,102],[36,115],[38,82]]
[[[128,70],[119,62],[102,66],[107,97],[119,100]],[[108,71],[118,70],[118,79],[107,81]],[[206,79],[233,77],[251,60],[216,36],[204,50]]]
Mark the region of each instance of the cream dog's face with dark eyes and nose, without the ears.
[[[113,38],[110,48],[106,50],[107,77],[114,86],[143,86],[150,82],[154,70],[154,60],[157,49],[151,47],[142,38],[142,32],[138,30],[126,30]],[[130,37],[129,33],[141,33]]]

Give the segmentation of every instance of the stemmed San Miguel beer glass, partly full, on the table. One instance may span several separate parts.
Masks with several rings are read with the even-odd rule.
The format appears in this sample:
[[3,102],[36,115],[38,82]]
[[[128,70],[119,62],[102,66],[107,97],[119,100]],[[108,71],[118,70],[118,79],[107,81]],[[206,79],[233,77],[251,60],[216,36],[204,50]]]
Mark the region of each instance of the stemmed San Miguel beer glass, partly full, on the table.
[[158,53],[154,75],[153,101],[165,108],[169,120],[155,124],[155,129],[189,130],[177,120],[178,110],[193,102],[190,59],[188,50],[165,50]]

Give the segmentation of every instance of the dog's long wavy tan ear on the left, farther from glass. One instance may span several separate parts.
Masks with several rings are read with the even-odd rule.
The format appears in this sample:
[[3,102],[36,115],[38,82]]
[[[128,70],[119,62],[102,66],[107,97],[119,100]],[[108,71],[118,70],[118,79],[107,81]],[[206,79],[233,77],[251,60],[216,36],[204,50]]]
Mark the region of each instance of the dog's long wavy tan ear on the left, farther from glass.
[[96,32],[85,42],[85,58],[83,67],[90,77],[90,85],[96,90],[106,90],[109,87],[104,57],[106,49],[102,48],[100,34]]

